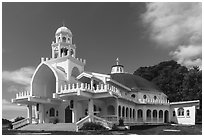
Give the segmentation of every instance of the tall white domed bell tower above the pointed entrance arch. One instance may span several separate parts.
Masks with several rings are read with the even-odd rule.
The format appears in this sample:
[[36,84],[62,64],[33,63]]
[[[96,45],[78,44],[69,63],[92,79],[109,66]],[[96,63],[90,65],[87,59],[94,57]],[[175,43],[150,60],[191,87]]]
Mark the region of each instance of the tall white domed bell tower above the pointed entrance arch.
[[76,46],[72,43],[72,32],[67,27],[62,26],[55,33],[55,42],[52,42],[52,58],[71,55],[75,58]]

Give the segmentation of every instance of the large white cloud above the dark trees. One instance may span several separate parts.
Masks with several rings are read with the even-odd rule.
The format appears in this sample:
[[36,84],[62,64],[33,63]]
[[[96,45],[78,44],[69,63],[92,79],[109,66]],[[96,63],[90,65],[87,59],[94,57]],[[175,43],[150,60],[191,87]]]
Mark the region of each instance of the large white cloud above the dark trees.
[[173,49],[170,55],[179,63],[201,67],[201,3],[147,3],[141,18],[152,41]]

